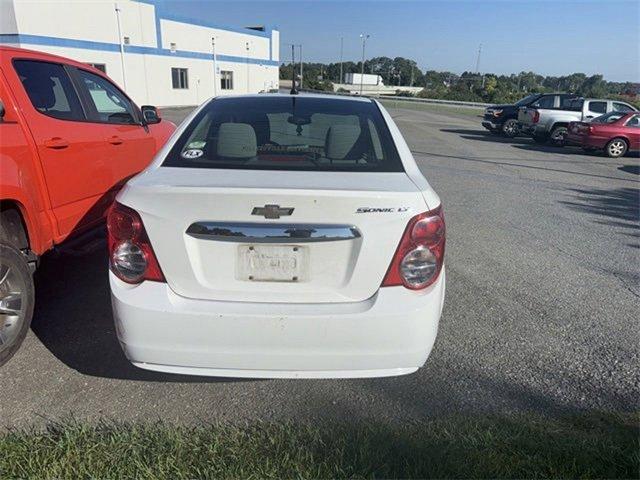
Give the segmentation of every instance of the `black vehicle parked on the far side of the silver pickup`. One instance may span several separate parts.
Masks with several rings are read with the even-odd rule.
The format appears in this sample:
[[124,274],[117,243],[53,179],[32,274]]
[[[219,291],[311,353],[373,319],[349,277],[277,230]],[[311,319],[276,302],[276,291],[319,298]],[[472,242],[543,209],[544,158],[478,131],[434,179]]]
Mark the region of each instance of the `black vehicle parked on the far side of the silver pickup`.
[[560,105],[565,99],[577,98],[572,93],[535,93],[510,105],[492,105],[484,111],[482,126],[493,133],[502,133],[506,137],[520,134],[518,110],[520,107],[550,108]]

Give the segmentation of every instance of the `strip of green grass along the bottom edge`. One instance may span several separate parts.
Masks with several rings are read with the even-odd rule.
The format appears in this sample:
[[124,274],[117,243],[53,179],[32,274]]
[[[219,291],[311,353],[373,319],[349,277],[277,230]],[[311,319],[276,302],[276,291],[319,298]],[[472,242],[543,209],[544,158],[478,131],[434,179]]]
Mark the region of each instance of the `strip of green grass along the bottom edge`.
[[0,478],[637,478],[638,415],[404,428],[66,422],[0,437]]

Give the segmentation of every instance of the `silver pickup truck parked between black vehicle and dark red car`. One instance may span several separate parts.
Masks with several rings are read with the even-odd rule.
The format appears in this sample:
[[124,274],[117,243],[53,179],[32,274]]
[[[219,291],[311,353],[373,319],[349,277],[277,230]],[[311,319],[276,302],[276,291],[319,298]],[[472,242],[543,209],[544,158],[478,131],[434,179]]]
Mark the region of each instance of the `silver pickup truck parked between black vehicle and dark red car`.
[[614,110],[633,112],[636,108],[617,100],[555,97],[553,105],[521,107],[518,123],[522,133],[530,135],[538,143],[562,144],[569,122],[590,122]]

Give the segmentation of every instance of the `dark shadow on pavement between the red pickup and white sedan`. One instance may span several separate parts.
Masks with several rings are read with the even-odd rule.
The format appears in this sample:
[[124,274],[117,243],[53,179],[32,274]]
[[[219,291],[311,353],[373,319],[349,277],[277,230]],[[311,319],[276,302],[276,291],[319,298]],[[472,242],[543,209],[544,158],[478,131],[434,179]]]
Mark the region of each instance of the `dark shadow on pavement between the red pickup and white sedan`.
[[111,313],[106,241],[81,255],[45,255],[36,280],[31,328],[60,361],[95,377],[156,382],[241,381],[170,375],[129,363],[115,333]]

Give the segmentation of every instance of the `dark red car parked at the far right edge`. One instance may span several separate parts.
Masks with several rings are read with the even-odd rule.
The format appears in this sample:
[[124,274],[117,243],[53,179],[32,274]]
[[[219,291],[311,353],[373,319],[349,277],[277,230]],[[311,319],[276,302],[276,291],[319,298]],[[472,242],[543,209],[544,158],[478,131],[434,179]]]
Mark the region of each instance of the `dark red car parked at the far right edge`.
[[640,150],[640,113],[609,112],[591,122],[571,122],[565,143],[590,152],[604,150],[613,158]]

